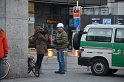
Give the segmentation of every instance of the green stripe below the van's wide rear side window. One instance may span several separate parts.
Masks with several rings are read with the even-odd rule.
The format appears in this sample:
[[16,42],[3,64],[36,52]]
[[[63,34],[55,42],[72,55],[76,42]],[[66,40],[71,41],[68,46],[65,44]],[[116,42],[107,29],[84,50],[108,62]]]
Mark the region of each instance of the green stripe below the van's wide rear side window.
[[112,48],[112,43],[110,43],[110,42],[81,41],[80,47]]

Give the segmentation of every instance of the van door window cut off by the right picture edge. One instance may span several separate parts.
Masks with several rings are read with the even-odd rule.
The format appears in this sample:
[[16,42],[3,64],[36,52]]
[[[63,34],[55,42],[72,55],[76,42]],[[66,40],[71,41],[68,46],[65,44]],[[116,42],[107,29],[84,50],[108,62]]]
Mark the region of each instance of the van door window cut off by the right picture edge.
[[124,43],[124,29],[123,28],[116,29],[115,42]]

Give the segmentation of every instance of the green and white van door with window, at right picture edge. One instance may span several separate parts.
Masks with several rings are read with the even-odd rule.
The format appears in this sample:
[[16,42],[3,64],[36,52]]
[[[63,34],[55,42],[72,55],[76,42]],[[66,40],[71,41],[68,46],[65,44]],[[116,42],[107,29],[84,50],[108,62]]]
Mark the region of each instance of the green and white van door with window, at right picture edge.
[[124,28],[117,28],[113,44],[112,66],[124,67]]

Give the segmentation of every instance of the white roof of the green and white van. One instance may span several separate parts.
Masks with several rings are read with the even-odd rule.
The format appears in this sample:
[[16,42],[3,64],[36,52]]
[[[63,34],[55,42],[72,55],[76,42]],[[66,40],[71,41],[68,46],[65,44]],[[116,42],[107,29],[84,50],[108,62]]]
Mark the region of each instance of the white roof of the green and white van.
[[89,24],[84,28],[84,31],[88,31],[89,28],[124,28],[124,25]]

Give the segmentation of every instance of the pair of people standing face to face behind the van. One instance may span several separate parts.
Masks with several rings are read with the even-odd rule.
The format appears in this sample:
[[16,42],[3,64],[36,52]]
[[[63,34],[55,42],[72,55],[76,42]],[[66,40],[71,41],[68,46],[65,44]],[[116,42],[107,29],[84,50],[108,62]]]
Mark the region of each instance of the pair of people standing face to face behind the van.
[[[37,60],[36,60],[36,72],[41,72],[41,64],[45,53],[47,53],[48,45],[48,33],[41,26],[35,27],[34,38],[36,40],[36,51],[37,51]],[[54,47],[57,50],[57,60],[59,63],[59,69],[55,71],[58,74],[65,74],[65,59],[64,51],[68,46],[68,36],[64,31],[63,23],[57,24],[57,34],[53,40]]]

